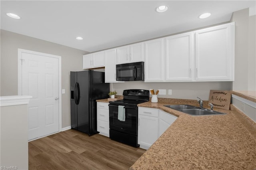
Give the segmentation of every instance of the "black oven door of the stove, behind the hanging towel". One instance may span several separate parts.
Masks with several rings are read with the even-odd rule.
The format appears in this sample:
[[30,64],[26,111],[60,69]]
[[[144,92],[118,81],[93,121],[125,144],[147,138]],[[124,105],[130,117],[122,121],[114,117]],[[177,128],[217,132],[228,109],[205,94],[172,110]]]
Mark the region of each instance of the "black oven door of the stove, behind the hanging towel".
[[132,134],[137,136],[138,134],[138,107],[136,106],[124,106],[125,109],[125,121],[118,120],[118,106],[109,104],[109,124],[111,130],[118,132]]

